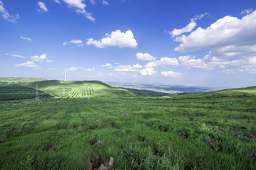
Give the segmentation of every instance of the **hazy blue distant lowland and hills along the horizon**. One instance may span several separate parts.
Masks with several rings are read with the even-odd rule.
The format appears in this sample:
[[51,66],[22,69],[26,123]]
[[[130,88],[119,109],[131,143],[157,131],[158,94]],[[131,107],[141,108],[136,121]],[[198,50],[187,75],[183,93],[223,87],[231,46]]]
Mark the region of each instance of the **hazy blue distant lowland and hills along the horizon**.
[[122,82],[110,82],[105,81],[105,84],[108,84],[113,87],[122,87],[129,89],[146,89],[146,90],[154,90],[161,91],[169,94],[176,94],[181,92],[186,93],[195,93],[195,92],[207,92],[207,91],[215,91],[218,89],[213,89],[210,87],[201,87],[201,86],[169,86],[169,85],[152,85],[152,84],[130,84],[130,83],[122,83]]

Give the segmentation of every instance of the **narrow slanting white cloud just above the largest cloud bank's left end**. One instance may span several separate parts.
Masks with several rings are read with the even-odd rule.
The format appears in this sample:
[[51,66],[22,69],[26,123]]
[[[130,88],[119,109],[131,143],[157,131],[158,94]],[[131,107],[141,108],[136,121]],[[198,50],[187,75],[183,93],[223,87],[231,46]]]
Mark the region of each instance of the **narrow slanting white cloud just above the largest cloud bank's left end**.
[[183,33],[190,33],[193,30],[193,28],[196,27],[196,21],[200,20],[201,18],[207,15],[209,15],[209,13],[203,13],[201,15],[195,16],[191,19],[191,22],[188,23],[188,26],[183,27],[181,29],[174,28],[174,30],[170,31],[169,34],[171,34],[171,37],[174,38],[175,36],[181,35]]

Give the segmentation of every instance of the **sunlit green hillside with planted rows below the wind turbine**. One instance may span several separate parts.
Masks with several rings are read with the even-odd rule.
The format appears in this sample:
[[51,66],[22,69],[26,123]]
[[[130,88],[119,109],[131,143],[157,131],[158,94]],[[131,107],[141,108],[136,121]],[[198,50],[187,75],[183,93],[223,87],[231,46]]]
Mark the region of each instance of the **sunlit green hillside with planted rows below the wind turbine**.
[[[87,98],[90,97],[125,97],[134,96],[132,92],[124,89],[115,89],[101,81],[40,81],[22,83],[26,86],[36,87],[61,98]],[[63,93],[65,89],[65,94]]]

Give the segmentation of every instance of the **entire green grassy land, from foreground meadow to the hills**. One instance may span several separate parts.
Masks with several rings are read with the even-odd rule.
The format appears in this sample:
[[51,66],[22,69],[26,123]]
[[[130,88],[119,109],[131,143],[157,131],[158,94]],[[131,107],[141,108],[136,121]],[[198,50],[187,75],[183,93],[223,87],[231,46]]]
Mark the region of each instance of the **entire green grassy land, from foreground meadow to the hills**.
[[256,169],[256,87],[141,97],[0,80],[0,169]]

